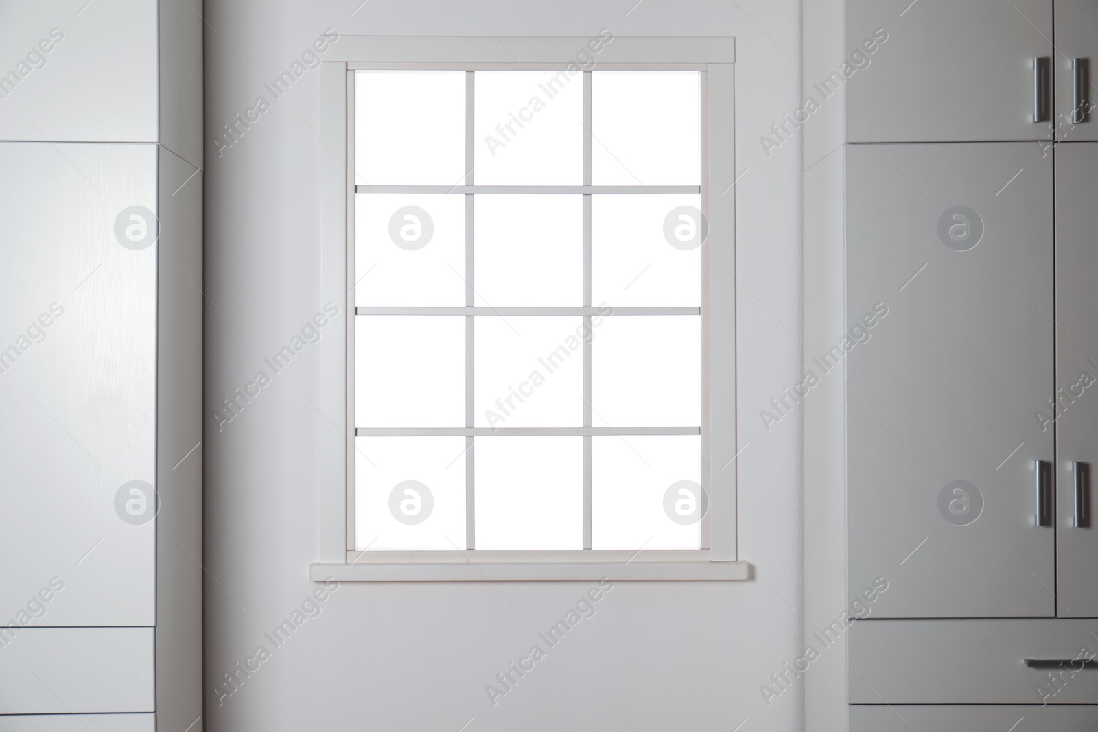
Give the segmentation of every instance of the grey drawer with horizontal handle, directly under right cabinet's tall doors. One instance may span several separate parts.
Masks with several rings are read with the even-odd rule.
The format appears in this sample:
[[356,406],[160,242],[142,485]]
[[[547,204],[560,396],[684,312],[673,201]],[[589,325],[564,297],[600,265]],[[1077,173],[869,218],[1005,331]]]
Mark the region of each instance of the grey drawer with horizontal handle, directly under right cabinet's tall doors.
[[850,702],[1093,703],[1098,667],[1026,660],[1096,653],[1098,620],[860,620],[850,629]]

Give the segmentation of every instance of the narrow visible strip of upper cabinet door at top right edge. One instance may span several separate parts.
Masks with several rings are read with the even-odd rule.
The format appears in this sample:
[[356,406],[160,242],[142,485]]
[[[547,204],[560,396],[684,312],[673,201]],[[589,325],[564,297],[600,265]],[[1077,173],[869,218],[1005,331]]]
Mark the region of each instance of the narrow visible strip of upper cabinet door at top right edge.
[[[1056,79],[1056,139],[1098,139],[1098,92],[1095,90],[1098,81],[1098,3],[1094,0],[1056,0],[1056,56],[1052,66]],[[1073,114],[1076,104],[1085,113],[1079,117]]]

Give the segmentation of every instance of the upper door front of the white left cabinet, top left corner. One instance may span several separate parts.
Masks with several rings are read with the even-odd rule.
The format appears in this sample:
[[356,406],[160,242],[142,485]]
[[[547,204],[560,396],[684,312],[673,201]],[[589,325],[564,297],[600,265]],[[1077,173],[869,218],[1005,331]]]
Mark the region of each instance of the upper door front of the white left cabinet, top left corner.
[[157,142],[155,0],[8,0],[2,15],[0,140]]

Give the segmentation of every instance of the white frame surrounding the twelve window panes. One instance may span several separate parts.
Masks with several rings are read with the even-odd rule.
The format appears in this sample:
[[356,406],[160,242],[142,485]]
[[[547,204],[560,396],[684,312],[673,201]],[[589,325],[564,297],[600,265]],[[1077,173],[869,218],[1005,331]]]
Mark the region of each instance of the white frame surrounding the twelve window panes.
[[[355,548],[354,338],[355,71],[359,69],[561,69],[587,37],[341,36],[339,59],[320,69],[321,303],[337,303],[334,337],[321,341],[320,556],[314,581],[507,582],[750,578],[737,554],[735,40],[621,37],[605,44],[593,70],[702,72],[702,485],[709,510],[696,550],[357,551]],[[329,54],[332,59],[334,54]],[[515,59],[522,59],[516,61]],[[590,94],[590,75],[584,92]],[[590,110],[590,95],[585,109]],[[467,122],[469,123],[469,122]],[[585,136],[585,139],[590,137]],[[471,155],[467,150],[467,156]],[[590,171],[590,143],[584,150]],[[618,187],[569,187],[575,193]],[[373,187],[377,188],[377,187]],[[486,192],[467,187],[462,193]],[[500,187],[492,187],[493,189]],[[560,187],[554,187],[560,188]],[[442,191],[447,192],[447,191]],[[590,249],[590,247],[587,247]],[[593,308],[576,308],[593,309]],[[469,311],[473,314],[473,311]],[[584,313],[581,313],[584,314]],[[615,315],[612,317],[628,317]],[[341,326],[341,327],[340,327]],[[585,346],[586,348],[586,346]],[[590,421],[587,423],[590,424]],[[438,431],[438,430],[433,430]],[[458,435],[474,433],[457,428]],[[593,435],[601,428],[571,430]],[[496,432],[498,433],[498,431]],[[590,484],[585,486],[590,503]],[[590,510],[584,539],[590,545]]]

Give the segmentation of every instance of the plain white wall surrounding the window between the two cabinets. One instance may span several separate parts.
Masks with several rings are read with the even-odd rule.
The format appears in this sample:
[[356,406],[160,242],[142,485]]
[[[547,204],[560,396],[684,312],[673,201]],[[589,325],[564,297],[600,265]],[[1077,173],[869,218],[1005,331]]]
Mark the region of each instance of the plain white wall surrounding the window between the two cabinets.
[[[799,381],[799,138],[768,158],[759,137],[799,108],[795,0],[206,0],[204,729],[799,730],[803,679],[768,706],[760,685],[803,653],[800,415],[759,412]],[[357,10],[356,10],[357,8]],[[630,8],[631,11],[630,11]],[[354,13],[354,14],[352,14]],[[628,13],[628,14],[627,14]],[[537,642],[585,584],[345,583],[221,699],[214,684],[272,643],[317,585],[317,351],[295,359],[239,417],[222,397],[316,313],[318,75],[307,72],[233,147],[213,134],[269,94],[326,27],[340,34],[731,35],[741,558],[751,582],[619,583],[492,707],[484,686]],[[312,128],[312,129],[311,129]],[[732,193],[729,193],[731,195]],[[335,337],[325,334],[324,337]]]

